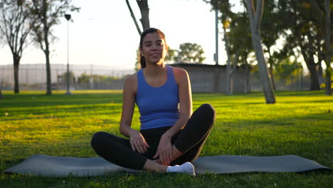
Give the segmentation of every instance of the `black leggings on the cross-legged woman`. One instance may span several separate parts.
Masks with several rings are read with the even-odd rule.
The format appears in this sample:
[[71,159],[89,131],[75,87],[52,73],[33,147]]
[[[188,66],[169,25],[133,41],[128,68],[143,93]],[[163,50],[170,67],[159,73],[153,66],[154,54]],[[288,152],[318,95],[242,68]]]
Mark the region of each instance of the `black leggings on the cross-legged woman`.
[[[196,160],[211,132],[214,120],[215,110],[209,104],[203,104],[194,111],[184,129],[179,130],[171,139],[171,143],[183,153],[181,157],[171,162],[171,165]],[[144,154],[134,152],[128,139],[107,132],[96,132],[91,140],[91,146],[98,155],[113,164],[131,169],[142,169],[147,159],[152,160],[156,154],[159,140],[169,128],[160,127],[140,131],[149,145],[148,151]]]

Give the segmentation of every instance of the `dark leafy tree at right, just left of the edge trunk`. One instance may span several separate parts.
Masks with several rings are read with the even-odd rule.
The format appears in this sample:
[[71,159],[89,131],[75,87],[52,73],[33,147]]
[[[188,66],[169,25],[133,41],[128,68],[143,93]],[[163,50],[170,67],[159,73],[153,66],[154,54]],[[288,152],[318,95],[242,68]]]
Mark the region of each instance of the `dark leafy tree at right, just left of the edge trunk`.
[[282,23],[287,26],[284,48],[290,53],[295,53],[295,49],[302,53],[310,73],[310,90],[319,90],[317,68],[324,58],[324,1],[279,0],[278,9]]

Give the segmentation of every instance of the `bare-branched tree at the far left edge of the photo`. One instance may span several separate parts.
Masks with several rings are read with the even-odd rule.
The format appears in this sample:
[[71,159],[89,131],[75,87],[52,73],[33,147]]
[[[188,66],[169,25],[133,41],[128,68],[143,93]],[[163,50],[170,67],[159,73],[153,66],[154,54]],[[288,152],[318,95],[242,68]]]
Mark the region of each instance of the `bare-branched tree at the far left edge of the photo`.
[[14,93],[19,93],[18,69],[24,48],[26,47],[26,38],[31,31],[28,26],[29,11],[26,1],[4,0],[0,3],[0,34],[11,48],[14,63]]

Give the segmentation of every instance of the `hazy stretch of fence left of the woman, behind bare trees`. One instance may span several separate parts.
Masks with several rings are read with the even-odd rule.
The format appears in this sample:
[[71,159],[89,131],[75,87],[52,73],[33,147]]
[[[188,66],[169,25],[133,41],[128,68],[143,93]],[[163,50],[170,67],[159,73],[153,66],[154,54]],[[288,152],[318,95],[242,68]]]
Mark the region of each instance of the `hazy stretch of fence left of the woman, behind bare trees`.
[[[75,78],[70,81],[71,90],[120,90],[124,84],[124,78],[126,75],[134,73],[134,69],[121,70],[108,66],[72,65],[70,66],[70,72],[73,73],[73,78]],[[77,81],[82,75],[90,78],[88,82],[79,83]],[[67,78],[67,65],[51,65],[53,90],[67,88],[64,77]],[[105,80],[101,78],[105,78]],[[43,64],[22,64],[18,71],[18,80],[20,90],[45,90],[46,66]],[[14,68],[12,65],[0,66],[0,88],[2,90],[13,90]]]

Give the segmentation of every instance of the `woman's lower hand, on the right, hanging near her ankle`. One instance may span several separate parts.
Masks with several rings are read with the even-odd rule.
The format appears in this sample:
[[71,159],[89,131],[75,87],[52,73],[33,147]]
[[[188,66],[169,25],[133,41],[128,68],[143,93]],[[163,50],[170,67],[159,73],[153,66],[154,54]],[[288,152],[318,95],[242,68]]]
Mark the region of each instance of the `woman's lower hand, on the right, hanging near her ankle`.
[[159,147],[157,147],[156,155],[154,159],[159,158],[159,163],[165,166],[169,166],[172,158],[172,145],[171,137],[168,135],[162,135],[159,140]]

